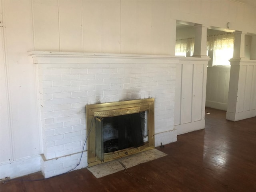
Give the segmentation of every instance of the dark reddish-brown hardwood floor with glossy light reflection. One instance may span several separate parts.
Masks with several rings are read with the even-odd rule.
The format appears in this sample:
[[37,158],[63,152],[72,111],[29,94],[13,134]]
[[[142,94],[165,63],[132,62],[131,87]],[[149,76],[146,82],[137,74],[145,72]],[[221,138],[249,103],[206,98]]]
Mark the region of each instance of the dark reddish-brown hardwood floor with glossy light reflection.
[[256,192],[256,117],[238,122],[206,108],[204,130],[178,136],[165,157],[96,179],[86,168],[41,181],[1,183],[1,192]]

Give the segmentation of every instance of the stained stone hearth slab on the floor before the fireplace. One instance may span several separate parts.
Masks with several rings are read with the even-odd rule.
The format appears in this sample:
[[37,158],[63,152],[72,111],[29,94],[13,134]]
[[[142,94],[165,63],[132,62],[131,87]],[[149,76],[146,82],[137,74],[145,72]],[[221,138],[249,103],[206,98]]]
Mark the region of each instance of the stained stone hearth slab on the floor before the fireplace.
[[126,168],[130,168],[138,164],[142,164],[145,162],[152,161],[154,159],[158,159],[166,155],[167,154],[157,149],[152,149],[152,150],[144,151],[131,156],[127,156],[124,158],[120,158],[114,161],[92,166],[92,167],[89,167],[88,170],[92,172],[92,174],[96,178],[101,178],[101,177],[116,173],[118,171],[125,170]]

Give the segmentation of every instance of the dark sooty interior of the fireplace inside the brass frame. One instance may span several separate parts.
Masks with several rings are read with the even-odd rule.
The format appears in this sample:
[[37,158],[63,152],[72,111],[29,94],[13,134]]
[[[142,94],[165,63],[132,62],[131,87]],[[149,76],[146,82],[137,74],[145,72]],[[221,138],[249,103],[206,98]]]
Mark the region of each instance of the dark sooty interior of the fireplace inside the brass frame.
[[101,118],[104,153],[136,148],[147,141],[146,112]]

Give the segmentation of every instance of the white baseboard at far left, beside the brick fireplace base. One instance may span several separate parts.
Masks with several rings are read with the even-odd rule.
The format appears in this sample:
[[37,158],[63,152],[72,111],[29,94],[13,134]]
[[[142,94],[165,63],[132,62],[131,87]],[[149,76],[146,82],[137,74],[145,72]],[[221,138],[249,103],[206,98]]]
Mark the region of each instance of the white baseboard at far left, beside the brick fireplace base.
[[32,156],[0,164],[0,178],[15,178],[41,170],[41,156]]

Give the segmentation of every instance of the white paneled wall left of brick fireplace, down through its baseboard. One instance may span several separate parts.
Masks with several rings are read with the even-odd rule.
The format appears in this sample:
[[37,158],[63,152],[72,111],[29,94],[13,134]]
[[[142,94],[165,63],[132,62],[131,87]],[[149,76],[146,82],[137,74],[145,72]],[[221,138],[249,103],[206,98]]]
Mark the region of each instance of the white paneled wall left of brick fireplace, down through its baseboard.
[[3,178],[40,171],[40,128],[35,68],[27,54],[33,50],[34,43],[31,2],[1,1],[0,4],[0,178]]

